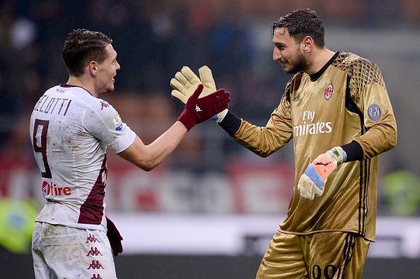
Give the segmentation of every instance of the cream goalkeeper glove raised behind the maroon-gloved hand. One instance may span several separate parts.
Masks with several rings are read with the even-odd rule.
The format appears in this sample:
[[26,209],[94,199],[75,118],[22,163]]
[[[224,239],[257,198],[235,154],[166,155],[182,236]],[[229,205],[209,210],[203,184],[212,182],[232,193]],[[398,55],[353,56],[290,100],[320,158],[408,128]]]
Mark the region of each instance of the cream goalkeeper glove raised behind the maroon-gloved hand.
[[[171,93],[172,97],[185,104],[199,84],[204,85],[203,92],[199,97],[205,97],[214,93],[216,91],[216,83],[214,83],[210,68],[208,66],[202,66],[199,69],[199,75],[200,77],[189,69],[189,67],[183,66],[181,71],[175,73],[175,78],[170,80],[170,86],[173,88]],[[224,109],[223,112],[216,114],[211,119],[219,123],[227,113],[228,109]]]

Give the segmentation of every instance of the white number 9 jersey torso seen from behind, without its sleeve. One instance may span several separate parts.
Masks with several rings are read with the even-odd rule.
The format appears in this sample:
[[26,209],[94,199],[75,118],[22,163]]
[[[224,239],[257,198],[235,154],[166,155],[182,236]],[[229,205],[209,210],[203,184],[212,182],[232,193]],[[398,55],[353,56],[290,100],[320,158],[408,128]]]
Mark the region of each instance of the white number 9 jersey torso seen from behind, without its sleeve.
[[[93,113],[93,100],[97,99],[81,88],[56,86],[47,90],[35,105],[30,137],[42,177],[40,191],[52,202],[47,203],[49,208],[42,210],[46,212],[38,220],[78,222],[81,206],[98,181],[98,195],[105,194],[106,146],[101,146],[83,125],[86,114]],[[47,216],[64,212],[68,218]]]

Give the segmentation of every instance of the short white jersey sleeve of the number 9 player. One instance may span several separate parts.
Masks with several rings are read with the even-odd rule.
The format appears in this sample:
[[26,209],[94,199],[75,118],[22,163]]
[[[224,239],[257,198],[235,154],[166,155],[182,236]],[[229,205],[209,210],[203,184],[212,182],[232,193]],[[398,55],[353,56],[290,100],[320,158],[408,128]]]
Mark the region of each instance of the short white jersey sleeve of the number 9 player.
[[126,150],[136,138],[136,133],[122,121],[117,110],[111,105],[91,108],[90,112],[83,115],[83,122],[86,129],[114,153]]

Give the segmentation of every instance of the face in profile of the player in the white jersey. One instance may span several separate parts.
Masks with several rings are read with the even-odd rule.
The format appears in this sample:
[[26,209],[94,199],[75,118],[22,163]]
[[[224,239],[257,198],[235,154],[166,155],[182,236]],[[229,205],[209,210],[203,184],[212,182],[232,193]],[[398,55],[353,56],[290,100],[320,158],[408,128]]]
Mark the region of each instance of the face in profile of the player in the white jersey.
[[98,70],[95,78],[95,88],[98,93],[110,93],[114,91],[114,82],[117,71],[121,69],[117,62],[117,52],[115,52],[112,44],[105,47],[107,58],[98,64]]

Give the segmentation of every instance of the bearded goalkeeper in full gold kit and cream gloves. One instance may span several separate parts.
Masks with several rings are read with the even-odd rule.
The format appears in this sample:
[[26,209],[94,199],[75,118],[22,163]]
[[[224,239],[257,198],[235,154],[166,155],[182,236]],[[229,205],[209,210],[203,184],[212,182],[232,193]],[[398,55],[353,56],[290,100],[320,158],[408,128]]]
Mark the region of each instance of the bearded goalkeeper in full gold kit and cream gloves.
[[[293,138],[295,178],[286,220],[257,278],[361,278],[375,241],[378,155],[397,143],[383,75],[356,54],[332,52],[315,11],[296,10],[272,28],[273,59],[293,77],[267,125],[225,109],[216,122],[238,143],[266,157]],[[171,80],[186,102],[199,83],[214,92],[211,71],[188,67]]]

